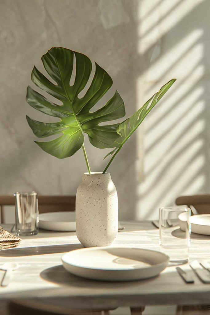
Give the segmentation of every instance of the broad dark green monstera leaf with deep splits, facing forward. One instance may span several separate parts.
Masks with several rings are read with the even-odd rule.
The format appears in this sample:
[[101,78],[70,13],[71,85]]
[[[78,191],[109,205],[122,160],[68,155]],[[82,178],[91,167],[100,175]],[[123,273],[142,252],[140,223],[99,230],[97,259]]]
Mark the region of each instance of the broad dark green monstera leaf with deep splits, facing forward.
[[[74,56],[76,75],[72,86],[70,79],[73,71]],[[42,56],[42,62],[54,84],[36,67],[33,68],[31,80],[40,89],[62,102],[57,105],[43,95],[27,88],[26,100],[29,105],[47,115],[58,117],[59,122],[43,123],[26,116],[33,133],[39,137],[61,134],[58,138],[47,141],[35,141],[45,152],[58,158],[73,155],[83,144],[83,133],[87,133],[91,144],[98,148],[108,148],[119,137],[116,132],[118,124],[99,125],[125,115],[123,100],[116,91],[114,96],[99,110],[90,112],[91,108],[111,88],[112,79],[108,73],[95,63],[93,80],[82,98],[78,94],[85,88],[92,71],[92,62],[84,54],[65,48],[52,48]]]

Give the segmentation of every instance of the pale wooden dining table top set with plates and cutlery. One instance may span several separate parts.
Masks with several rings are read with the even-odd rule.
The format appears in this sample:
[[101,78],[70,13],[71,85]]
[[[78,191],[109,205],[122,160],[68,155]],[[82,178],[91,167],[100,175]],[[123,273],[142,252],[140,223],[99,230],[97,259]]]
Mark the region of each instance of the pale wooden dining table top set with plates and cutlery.
[[[121,222],[124,230],[112,246],[159,250],[159,230],[151,221]],[[3,225],[11,231],[12,225]],[[68,273],[61,256],[82,248],[76,232],[39,230],[36,236],[22,237],[17,248],[0,251],[0,264],[16,262],[10,284],[0,287],[0,307],[6,301],[30,300],[46,310],[65,308],[114,309],[119,306],[201,305],[210,302],[210,284],[202,283],[189,264],[194,284],[186,284],[175,266],[168,266],[155,278],[128,282],[103,282]],[[210,236],[191,234],[190,261],[210,261]],[[4,271],[0,271],[0,281]]]

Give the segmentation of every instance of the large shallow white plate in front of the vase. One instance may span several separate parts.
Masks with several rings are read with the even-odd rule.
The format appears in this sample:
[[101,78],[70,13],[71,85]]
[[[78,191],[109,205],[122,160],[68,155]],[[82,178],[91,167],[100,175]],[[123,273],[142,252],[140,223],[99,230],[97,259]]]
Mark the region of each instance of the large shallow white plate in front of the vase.
[[64,268],[83,278],[129,281],[157,276],[168,265],[161,252],[127,247],[90,247],[62,256]]

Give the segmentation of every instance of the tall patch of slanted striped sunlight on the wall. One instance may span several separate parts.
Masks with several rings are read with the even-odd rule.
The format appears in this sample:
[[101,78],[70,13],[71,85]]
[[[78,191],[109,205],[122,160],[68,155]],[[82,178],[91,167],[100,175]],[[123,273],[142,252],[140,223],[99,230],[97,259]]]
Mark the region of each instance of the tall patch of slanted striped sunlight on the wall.
[[177,81],[143,125],[137,219],[157,219],[159,207],[205,185],[205,32],[191,16],[202,2],[143,0],[139,5],[138,51],[145,70],[137,79],[137,101],[143,104],[168,80]]

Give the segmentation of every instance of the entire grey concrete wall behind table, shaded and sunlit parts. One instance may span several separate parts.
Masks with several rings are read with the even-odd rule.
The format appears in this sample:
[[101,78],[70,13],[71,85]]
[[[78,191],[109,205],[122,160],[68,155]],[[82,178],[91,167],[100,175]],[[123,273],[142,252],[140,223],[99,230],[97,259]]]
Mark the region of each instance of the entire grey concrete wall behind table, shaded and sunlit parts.
[[[113,78],[127,117],[173,77],[177,83],[123,147],[109,171],[120,219],[155,218],[179,194],[209,191],[209,1],[0,0],[0,194],[75,194],[82,150],[59,160],[43,152],[25,115],[34,65],[52,46],[87,54]],[[85,139],[93,171],[107,150]]]

